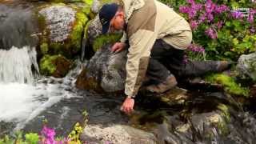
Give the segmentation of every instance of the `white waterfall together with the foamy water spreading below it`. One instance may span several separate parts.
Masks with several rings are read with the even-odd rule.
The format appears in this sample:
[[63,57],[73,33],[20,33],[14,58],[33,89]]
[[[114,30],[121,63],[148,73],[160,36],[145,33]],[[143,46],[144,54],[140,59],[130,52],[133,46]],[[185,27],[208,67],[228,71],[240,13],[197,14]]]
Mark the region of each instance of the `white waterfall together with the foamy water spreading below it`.
[[[0,50],[0,122],[16,122],[22,129],[38,114],[63,98],[76,95],[67,89],[74,83],[74,69],[66,78],[39,78],[34,80],[31,66],[38,70],[35,50]],[[26,83],[25,83],[26,82]]]

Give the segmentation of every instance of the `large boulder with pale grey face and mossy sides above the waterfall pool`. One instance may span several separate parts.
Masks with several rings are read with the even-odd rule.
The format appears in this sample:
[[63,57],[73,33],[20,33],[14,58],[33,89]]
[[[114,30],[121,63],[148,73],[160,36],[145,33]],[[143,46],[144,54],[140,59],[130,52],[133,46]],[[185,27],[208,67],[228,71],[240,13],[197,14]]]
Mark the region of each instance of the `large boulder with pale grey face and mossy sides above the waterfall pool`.
[[84,26],[88,18],[78,7],[64,4],[42,6],[38,10],[42,54],[74,57],[81,49]]

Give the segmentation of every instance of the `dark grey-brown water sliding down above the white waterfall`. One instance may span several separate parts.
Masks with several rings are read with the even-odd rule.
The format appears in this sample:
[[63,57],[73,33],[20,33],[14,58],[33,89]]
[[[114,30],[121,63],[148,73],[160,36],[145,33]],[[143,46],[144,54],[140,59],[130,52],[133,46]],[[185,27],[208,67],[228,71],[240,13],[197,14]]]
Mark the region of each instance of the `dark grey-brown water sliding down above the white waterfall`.
[[38,26],[34,20],[33,9],[34,6],[26,2],[17,5],[0,4],[0,49],[37,46]]

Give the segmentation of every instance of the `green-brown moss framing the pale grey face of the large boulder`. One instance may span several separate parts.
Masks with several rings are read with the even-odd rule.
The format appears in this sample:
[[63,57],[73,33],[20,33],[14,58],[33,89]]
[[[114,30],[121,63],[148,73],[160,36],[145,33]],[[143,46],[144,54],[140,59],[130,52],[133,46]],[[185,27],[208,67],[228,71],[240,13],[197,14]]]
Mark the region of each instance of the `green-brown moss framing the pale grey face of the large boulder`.
[[67,38],[64,42],[50,42],[50,30],[46,28],[46,19],[41,14],[38,14],[38,11],[46,8],[47,6],[54,5],[66,6],[64,3],[56,3],[40,6],[36,11],[39,30],[42,33],[42,35],[40,35],[40,50],[42,51],[42,54],[62,54],[66,56],[66,58],[73,58],[74,54],[77,54],[81,48],[84,27],[88,22],[86,14],[90,13],[90,9],[88,9],[88,6],[85,6],[86,8],[84,8],[84,6],[70,6],[76,10],[77,13],[75,16],[76,20],[73,23],[69,38]]

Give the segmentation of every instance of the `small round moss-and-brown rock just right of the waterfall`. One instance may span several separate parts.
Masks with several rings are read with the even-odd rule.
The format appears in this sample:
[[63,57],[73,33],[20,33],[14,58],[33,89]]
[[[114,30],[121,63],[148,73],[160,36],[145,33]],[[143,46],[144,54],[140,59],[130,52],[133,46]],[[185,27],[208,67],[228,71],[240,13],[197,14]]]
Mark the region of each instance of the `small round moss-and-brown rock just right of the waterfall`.
[[70,70],[71,62],[62,55],[45,55],[40,60],[40,73],[55,78],[65,77]]

